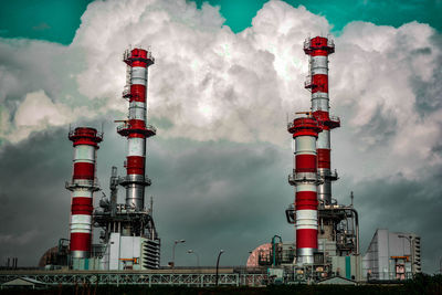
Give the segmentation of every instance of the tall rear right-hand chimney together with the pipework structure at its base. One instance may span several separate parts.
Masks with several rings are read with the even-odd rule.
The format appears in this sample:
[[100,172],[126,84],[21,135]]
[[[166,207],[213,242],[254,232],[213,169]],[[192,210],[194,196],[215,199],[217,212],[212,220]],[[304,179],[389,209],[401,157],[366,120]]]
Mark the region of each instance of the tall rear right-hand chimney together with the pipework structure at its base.
[[[328,55],[335,52],[333,40],[315,36],[304,42],[309,56],[309,76],[305,87],[312,91],[312,114],[322,125],[317,140],[317,170],[322,182],[317,187],[319,201],[319,240],[322,244],[336,244],[339,255],[359,254],[357,212],[349,207],[336,206],[332,198],[332,182],[338,179],[330,164],[330,131],[340,127],[340,119],[329,115]],[[338,210],[339,209],[339,210]]]

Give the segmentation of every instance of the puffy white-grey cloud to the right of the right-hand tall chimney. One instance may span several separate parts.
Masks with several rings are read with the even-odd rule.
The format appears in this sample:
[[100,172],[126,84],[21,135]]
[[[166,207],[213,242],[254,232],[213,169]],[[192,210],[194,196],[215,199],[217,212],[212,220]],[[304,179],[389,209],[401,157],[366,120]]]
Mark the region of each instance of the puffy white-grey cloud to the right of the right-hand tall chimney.
[[337,46],[340,50],[333,69],[335,63],[337,67],[332,75],[334,106],[346,114],[346,133],[352,147],[366,157],[355,158],[352,164],[359,165],[352,167],[365,166],[367,158],[376,162],[362,175],[348,167],[351,173],[401,173],[414,179],[423,176],[421,168],[440,166],[442,159],[432,147],[441,136],[442,108],[422,116],[420,103],[438,102],[436,93],[442,91],[436,83],[441,46],[435,32],[419,23],[393,29],[354,22],[337,39]]

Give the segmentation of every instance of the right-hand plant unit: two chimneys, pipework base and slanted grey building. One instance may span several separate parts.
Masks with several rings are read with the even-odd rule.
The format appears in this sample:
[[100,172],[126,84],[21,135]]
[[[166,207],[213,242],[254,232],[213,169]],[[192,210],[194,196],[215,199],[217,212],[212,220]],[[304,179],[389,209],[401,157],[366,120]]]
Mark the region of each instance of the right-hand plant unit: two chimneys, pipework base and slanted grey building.
[[308,38],[304,52],[309,57],[304,86],[311,91],[312,106],[308,112],[296,113],[287,126],[294,140],[288,183],[295,188],[295,200],[285,214],[294,224],[295,239],[283,242],[281,236],[273,236],[272,243],[251,253],[248,266],[267,266],[269,275],[280,282],[410,278],[421,272],[420,238],[415,234],[378,230],[361,257],[352,192],[350,204],[339,204],[332,191],[338,175],[330,164],[330,135],[340,127],[340,119],[329,115],[328,55],[335,52],[335,44],[329,38]]

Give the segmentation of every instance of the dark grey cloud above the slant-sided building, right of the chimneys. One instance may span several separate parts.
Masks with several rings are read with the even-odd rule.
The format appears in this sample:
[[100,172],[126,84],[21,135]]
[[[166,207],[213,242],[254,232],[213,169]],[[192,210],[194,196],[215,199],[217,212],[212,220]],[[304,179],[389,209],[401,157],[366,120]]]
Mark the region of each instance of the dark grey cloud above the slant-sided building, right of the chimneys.
[[343,189],[355,192],[362,253],[376,229],[414,232],[422,239],[423,271],[434,273],[442,257],[442,167],[421,172],[425,176],[421,180],[408,180],[400,175],[364,181],[341,179],[337,192]]

